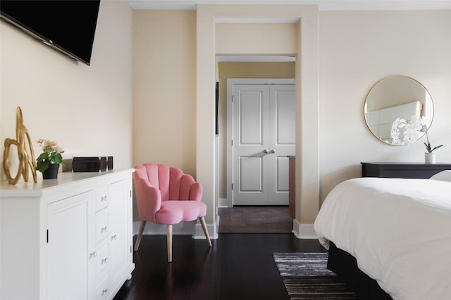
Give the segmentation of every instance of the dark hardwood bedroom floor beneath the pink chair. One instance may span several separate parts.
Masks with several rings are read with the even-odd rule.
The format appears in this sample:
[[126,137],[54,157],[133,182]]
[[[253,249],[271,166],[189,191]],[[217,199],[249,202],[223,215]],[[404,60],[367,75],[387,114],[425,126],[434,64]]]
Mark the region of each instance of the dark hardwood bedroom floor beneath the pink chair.
[[212,243],[174,235],[168,263],[166,235],[144,235],[132,279],[114,299],[288,300],[273,252],[326,252],[292,233],[220,233]]

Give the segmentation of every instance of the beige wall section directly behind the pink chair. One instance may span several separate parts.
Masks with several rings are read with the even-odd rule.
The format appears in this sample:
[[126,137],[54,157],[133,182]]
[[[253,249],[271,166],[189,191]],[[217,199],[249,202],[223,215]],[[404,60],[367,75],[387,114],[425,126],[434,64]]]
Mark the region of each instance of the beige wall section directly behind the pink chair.
[[196,12],[134,12],[134,164],[196,175]]

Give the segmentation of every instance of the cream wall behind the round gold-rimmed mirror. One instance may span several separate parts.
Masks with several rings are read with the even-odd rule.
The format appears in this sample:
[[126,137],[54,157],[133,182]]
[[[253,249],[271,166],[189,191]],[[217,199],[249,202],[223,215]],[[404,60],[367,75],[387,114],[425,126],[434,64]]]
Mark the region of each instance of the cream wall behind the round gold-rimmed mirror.
[[413,77],[435,106],[428,133],[438,162],[451,162],[451,11],[323,11],[320,14],[321,200],[361,175],[360,162],[424,162],[422,138],[391,146],[366,128],[366,93],[393,74]]

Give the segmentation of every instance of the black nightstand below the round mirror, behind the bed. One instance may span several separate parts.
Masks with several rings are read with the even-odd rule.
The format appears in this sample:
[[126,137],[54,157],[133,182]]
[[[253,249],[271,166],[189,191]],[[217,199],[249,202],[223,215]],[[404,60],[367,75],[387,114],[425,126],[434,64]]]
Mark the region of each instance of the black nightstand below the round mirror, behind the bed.
[[445,170],[449,163],[424,164],[416,162],[362,162],[362,177],[424,178]]

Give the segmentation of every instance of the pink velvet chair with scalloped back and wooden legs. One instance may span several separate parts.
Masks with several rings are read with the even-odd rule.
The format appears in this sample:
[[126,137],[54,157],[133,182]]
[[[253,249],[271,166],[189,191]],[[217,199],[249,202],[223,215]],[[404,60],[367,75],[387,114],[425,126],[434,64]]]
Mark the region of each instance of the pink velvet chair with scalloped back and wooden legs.
[[164,224],[167,225],[168,262],[171,262],[173,224],[198,218],[211,247],[204,220],[206,205],[201,202],[203,188],[191,175],[165,164],[140,164],[135,167],[133,183],[141,219],[135,251],[140,247],[146,222]]

